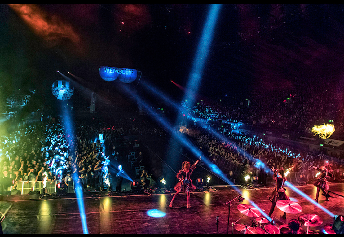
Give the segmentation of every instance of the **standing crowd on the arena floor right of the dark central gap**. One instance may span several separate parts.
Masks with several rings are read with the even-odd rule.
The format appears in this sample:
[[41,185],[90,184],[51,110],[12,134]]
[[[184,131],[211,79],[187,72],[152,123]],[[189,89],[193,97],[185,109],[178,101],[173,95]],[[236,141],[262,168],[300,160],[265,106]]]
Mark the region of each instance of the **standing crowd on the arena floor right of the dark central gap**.
[[188,134],[195,139],[197,146],[209,160],[216,164],[223,159],[243,167],[244,174],[236,174],[236,176],[245,174],[259,176],[259,172],[262,172],[264,167],[270,170],[272,167],[278,169],[283,167],[285,171],[290,168],[290,172],[297,175],[307,174],[309,177],[315,177],[316,170],[311,166],[321,168],[325,162],[330,162],[334,176],[343,179],[344,161],[322,152],[288,147],[242,133],[226,133],[223,139],[219,139],[210,135],[205,129],[199,127],[194,129],[198,132]]

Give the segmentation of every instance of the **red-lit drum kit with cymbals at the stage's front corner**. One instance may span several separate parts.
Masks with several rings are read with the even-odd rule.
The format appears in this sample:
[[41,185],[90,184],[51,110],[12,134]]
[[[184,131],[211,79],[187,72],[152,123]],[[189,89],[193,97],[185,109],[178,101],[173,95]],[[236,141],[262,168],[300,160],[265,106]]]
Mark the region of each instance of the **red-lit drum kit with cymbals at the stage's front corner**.
[[[282,212],[286,212],[289,214],[298,214],[302,212],[302,207],[293,201],[290,200],[280,200],[276,202],[276,206],[278,209],[280,209]],[[238,210],[240,213],[244,214],[244,216],[255,218],[255,220],[252,220],[252,226],[244,225],[244,224],[236,224],[238,220],[235,223],[232,223],[233,227],[243,233],[243,234],[288,234],[290,231],[290,228],[288,227],[288,224],[281,225],[277,227],[274,224],[269,224],[269,220],[260,217],[260,212],[257,208],[251,205],[247,204],[239,204]],[[241,218],[243,218],[242,216]],[[240,218],[240,219],[241,219]],[[240,220],[239,219],[239,220]],[[300,234],[316,234],[316,231],[312,231],[309,229],[309,227],[315,227],[320,226],[323,221],[322,219],[315,214],[303,214],[298,217],[300,223],[304,226],[307,226],[307,233],[302,228],[300,228],[299,232]],[[325,231],[328,234],[333,234],[333,228],[332,225],[325,226]],[[233,230],[232,230],[233,234]],[[319,233],[318,233],[319,234]]]

